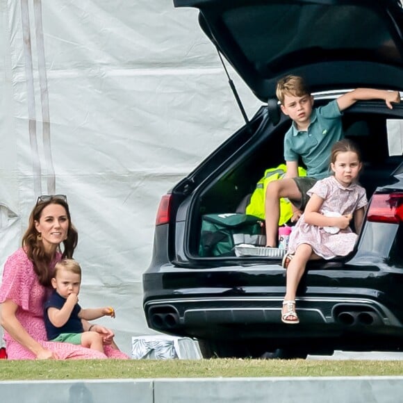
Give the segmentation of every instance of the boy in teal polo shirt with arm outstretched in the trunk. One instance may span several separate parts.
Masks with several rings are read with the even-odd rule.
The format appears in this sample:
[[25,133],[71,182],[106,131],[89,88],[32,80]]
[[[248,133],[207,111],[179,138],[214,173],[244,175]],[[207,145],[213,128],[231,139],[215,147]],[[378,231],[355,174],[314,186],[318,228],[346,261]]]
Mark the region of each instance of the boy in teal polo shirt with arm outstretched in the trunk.
[[[384,99],[388,108],[392,102],[400,103],[397,91],[356,88],[343,94],[326,106],[313,109],[313,97],[299,76],[288,75],[277,83],[277,98],[281,110],[293,124],[284,136],[284,159],[287,173],[283,179],[269,183],[265,195],[266,245],[277,246],[277,229],[280,214],[280,198],[287,197],[293,205],[292,222],[302,215],[309,197],[309,190],[318,179],[329,175],[331,146],[343,138],[341,115],[356,101]],[[298,161],[306,165],[307,176],[298,176]]]

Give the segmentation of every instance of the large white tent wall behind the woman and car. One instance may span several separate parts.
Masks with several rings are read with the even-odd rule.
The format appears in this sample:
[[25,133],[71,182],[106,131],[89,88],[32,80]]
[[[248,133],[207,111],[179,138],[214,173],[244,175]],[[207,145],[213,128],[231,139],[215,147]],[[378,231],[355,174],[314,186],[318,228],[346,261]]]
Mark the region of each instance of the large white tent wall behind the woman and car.
[[[169,0],[0,0],[0,272],[40,194],[67,195],[83,306],[142,311],[161,195],[244,122],[197,11]],[[258,100],[231,69],[249,117]]]

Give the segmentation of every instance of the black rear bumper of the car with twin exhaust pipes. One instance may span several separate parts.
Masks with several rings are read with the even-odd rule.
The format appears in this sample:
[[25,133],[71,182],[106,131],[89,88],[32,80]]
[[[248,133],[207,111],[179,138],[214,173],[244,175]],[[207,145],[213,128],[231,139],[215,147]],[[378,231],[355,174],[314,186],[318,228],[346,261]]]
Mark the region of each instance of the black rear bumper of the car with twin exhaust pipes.
[[264,339],[277,347],[296,338],[328,340],[336,349],[403,345],[403,270],[340,262],[313,267],[297,292],[300,323],[290,325],[281,322],[286,271],[279,265],[168,266],[144,275],[145,316],[156,331],[198,339]]

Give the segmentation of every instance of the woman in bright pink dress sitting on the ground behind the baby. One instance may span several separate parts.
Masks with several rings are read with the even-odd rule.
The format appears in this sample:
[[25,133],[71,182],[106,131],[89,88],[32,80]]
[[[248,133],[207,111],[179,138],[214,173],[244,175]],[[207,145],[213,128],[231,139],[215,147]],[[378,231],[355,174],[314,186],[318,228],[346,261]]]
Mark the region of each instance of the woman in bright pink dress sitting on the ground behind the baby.
[[85,330],[91,327],[104,336],[105,354],[47,341],[43,308],[51,292],[54,265],[61,258],[72,258],[77,240],[66,197],[38,197],[22,247],[7,259],[0,286],[0,323],[8,359],[129,359],[115,345],[113,331],[86,321]]

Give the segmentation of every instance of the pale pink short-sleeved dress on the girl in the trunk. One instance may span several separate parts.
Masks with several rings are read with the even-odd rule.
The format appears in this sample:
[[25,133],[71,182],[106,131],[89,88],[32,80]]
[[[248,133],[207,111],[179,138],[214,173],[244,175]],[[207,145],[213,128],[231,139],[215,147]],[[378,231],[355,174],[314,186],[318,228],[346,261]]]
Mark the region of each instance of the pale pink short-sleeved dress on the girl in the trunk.
[[[316,182],[306,193],[309,196],[318,195],[323,199],[320,213],[324,215],[352,214],[368,203],[364,188],[356,183],[345,188],[334,176]],[[352,252],[356,239],[357,235],[350,227],[340,229],[337,233],[330,233],[323,227],[307,224],[302,214],[290,234],[288,252],[294,253],[299,245],[305,243],[311,245],[313,252],[318,256],[331,259],[336,256],[346,256]]]

